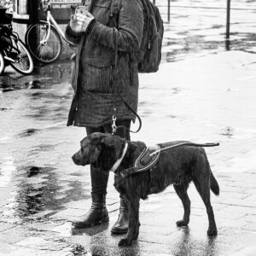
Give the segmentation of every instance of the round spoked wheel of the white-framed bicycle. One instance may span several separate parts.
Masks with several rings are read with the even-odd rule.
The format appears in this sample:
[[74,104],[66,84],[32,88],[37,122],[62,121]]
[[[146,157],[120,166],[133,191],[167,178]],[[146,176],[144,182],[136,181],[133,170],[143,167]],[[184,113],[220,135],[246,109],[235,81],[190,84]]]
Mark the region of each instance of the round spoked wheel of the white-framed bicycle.
[[62,41],[55,26],[50,25],[49,39],[44,44],[49,26],[45,22],[38,22],[29,26],[26,31],[26,45],[32,56],[43,63],[51,63],[61,55]]

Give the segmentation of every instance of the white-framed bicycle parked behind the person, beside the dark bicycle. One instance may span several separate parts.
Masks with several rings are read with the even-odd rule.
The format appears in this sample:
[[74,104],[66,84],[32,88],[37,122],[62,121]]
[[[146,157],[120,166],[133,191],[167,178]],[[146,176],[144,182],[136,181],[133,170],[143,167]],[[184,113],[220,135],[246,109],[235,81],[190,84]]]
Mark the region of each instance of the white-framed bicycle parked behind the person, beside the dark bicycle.
[[25,42],[32,56],[37,61],[52,63],[61,55],[61,38],[69,46],[74,46],[74,44],[67,40],[61,27],[51,15],[51,4],[49,1],[42,1],[41,7],[43,7],[44,12],[46,11],[46,20],[39,20],[38,23],[32,24],[27,28]]

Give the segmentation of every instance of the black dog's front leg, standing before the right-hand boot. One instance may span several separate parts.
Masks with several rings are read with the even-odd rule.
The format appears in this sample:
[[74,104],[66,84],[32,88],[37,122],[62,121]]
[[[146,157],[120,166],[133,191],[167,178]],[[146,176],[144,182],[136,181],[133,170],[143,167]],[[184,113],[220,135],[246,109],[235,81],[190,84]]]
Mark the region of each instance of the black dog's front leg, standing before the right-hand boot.
[[131,246],[133,240],[137,239],[139,234],[139,206],[140,198],[133,197],[132,200],[127,200],[129,207],[129,225],[128,232],[124,239],[119,241],[120,247]]

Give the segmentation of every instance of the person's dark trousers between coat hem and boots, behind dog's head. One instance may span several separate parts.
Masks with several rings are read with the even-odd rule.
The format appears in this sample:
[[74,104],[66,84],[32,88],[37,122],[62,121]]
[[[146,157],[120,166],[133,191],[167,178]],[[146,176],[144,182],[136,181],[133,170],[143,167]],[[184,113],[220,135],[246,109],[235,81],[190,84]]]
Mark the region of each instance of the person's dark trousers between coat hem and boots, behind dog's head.
[[[117,120],[116,125],[125,126],[127,129],[130,130],[131,127],[131,120]],[[124,128],[119,128],[115,135],[119,137],[123,137],[126,140],[131,140],[130,138],[130,131]],[[87,135],[90,135],[93,132],[102,132],[102,133],[112,133],[112,126],[111,124],[102,125],[101,127],[91,128],[86,127]],[[97,197],[103,197],[107,194],[107,186],[108,186],[108,173],[101,172],[92,166],[90,166],[90,180],[91,180],[91,194],[97,195]]]

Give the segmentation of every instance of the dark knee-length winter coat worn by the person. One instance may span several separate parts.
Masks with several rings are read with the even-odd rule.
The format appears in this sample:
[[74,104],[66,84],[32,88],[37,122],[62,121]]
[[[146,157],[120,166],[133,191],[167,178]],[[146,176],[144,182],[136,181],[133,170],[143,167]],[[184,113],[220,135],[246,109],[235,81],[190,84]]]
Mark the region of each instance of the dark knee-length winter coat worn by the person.
[[[67,38],[77,44],[72,79],[74,96],[67,125],[107,124],[112,119],[113,105],[118,119],[135,119],[117,90],[137,111],[138,73],[134,54],[143,35],[143,7],[138,0],[118,0],[119,12],[111,15],[112,1],[92,0],[89,11],[96,20],[86,32],[75,34],[67,25]],[[114,84],[111,84],[114,35],[118,37],[118,64]]]

